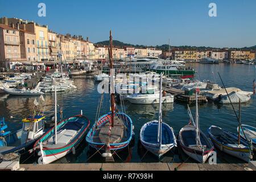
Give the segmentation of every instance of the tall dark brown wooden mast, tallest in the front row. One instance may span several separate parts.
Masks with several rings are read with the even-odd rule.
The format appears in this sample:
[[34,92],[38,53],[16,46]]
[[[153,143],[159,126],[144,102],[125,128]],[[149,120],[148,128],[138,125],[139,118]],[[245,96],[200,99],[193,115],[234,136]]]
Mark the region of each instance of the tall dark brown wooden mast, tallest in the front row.
[[114,127],[114,111],[115,111],[115,96],[114,96],[114,76],[113,76],[113,39],[112,39],[112,31],[110,30],[109,36],[109,62],[110,62],[110,107],[111,107],[111,124]]

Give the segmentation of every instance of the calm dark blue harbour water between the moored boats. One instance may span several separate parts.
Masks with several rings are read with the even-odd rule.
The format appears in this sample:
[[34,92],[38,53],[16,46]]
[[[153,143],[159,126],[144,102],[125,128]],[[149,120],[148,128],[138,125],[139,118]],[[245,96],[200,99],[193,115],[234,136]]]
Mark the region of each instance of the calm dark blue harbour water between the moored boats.
[[[242,90],[253,90],[253,79],[255,78],[254,65],[240,64],[190,64],[197,70],[197,78],[200,80],[212,80],[221,84],[217,72],[220,72],[226,86],[234,86]],[[212,74],[214,73],[214,76]],[[57,102],[63,106],[64,118],[71,117],[83,110],[84,115],[88,117],[91,124],[95,121],[98,101],[100,94],[97,93],[97,84],[94,84],[93,78],[75,78],[77,90],[70,92],[57,93]],[[54,93],[46,94],[46,115],[53,115],[54,112]],[[6,122],[11,131],[15,131],[22,127],[21,120],[28,114],[31,114],[33,101],[35,97],[18,97],[0,94],[0,116],[6,118]],[[235,105],[238,109],[238,105]],[[256,125],[256,102],[255,96],[252,96],[248,104],[242,104],[242,123],[247,125]],[[119,152],[115,156],[116,162],[158,162],[154,155],[146,153],[139,143],[139,130],[142,125],[148,121],[158,118],[158,105],[132,105],[126,103],[126,113],[133,119],[135,129],[134,142],[127,150]],[[104,98],[104,106],[101,114],[109,111],[108,96]],[[195,105],[191,106],[192,113],[195,113]],[[200,106],[200,127],[202,131],[207,131],[210,125],[216,125],[236,132],[237,120],[230,105],[220,106],[208,103]],[[10,118],[10,117],[13,118]],[[181,127],[187,125],[189,118],[187,114],[187,105],[174,103],[163,106],[163,121],[171,125],[175,134],[179,132]],[[95,151],[89,150],[86,142],[77,149],[76,154],[69,154],[67,157],[56,161],[56,163],[85,163],[85,162],[102,162],[100,154],[93,157]],[[242,163],[241,160],[217,151],[218,162],[221,163]],[[161,162],[183,162],[188,158],[179,148],[168,152],[164,155]],[[31,158],[26,163],[34,163],[36,159]],[[195,162],[188,159],[187,162]]]

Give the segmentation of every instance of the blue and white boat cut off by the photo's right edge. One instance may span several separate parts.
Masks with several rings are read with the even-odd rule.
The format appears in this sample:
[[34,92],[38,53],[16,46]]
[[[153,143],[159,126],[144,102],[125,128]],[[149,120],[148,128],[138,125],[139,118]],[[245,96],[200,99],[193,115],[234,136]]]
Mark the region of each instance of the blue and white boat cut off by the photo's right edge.
[[[243,131],[245,132],[246,137],[250,140],[251,144],[253,145],[253,150],[256,151],[256,127],[249,126],[249,125],[242,125]],[[242,132],[242,129],[239,127],[237,128],[238,132],[243,139],[245,139],[245,135]]]

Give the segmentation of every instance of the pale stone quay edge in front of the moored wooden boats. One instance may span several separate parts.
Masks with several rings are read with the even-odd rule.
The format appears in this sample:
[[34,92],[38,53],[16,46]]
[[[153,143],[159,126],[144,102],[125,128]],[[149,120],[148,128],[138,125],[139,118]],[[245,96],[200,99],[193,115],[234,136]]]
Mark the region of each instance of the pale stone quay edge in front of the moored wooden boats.
[[20,164],[26,171],[252,171],[251,164],[195,163],[80,163],[80,164]]

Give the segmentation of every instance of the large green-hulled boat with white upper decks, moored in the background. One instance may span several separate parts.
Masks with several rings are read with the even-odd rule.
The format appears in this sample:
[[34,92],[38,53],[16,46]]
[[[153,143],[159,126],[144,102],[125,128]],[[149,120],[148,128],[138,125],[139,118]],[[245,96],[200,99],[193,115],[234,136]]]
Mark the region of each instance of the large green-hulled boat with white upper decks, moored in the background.
[[144,68],[144,71],[156,72],[158,74],[164,73],[168,76],[195,76],[195,69],[187,69],[184,64],[180,63],[170,63],[170,64],[160,64],[155,63],[150,65],[148,68]]

